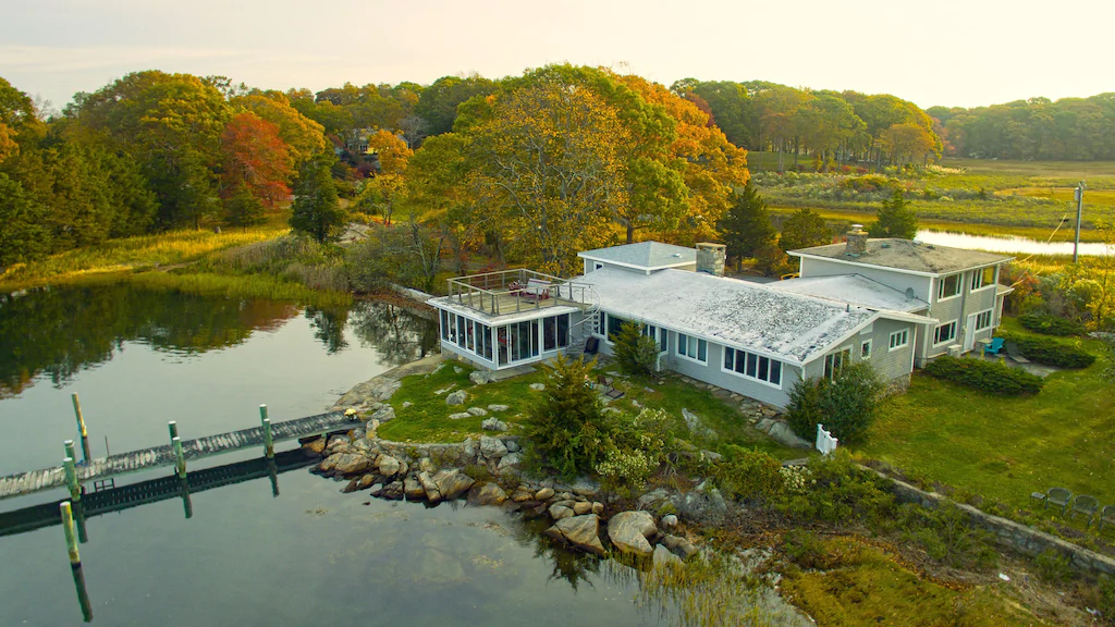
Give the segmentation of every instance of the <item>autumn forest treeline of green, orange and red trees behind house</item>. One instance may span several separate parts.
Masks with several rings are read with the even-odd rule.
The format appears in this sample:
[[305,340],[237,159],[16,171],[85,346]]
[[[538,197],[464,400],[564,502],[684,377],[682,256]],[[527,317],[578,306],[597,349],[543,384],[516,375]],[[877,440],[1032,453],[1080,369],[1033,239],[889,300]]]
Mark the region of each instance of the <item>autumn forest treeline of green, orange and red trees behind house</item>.
[[47,115],[0,78],[0,268],[107,238],[251,225],[293,193],[292,223],[321,241],[350,218],[339,195],[409,222],[421,255],[482,247],[559,271],[595,245],[715,237],[748,180],[746,149],[822,172],[952,153],[1115,158],[1111,96],[922,110],[568,65],[318,93],[153,70]]

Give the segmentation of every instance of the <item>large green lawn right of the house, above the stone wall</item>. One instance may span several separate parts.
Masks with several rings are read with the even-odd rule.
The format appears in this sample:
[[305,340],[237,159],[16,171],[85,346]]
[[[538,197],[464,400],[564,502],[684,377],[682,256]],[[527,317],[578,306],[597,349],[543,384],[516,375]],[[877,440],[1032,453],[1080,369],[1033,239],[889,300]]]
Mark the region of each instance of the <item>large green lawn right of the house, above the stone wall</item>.
[[[1028,334],[1011,318],[1005,328]],[[1099,341],[1079,341],[1102,353]],[[1031,397],[995,396],[917,373],[905,394],[884,403],[856,451],[1016,509],[1030,507],[1030,492],[1058,485],[1115,504],[1115,386],[1103,379],[1104,366],[1102,358],[1054,373]],[[1048,520],[1053,510],[1037,514]]]

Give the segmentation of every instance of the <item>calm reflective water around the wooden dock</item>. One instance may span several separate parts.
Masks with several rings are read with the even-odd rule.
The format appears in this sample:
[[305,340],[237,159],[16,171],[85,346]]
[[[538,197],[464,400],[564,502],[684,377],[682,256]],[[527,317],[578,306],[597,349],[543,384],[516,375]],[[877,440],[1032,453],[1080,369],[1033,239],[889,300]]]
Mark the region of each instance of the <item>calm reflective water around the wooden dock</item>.
[[[78,392],[94,455],[319,413],[434,348],[405,310],[312,310],[128,287],[0,295],[0,473],[57,463]],[[293,447],[288,444],[287,447]],[[243,452],[207,461],[229,464]],[[202,467],[198,464],[192,470]],[[161,471],[127,478],[164,476]],[[340,494],[306,469],[89,518],[99,625],[657,625],[622,569],[497,509]],[[11,511],[60,491],[0,501]],[[77,625],[57,525],[0,537],[0,625]]]

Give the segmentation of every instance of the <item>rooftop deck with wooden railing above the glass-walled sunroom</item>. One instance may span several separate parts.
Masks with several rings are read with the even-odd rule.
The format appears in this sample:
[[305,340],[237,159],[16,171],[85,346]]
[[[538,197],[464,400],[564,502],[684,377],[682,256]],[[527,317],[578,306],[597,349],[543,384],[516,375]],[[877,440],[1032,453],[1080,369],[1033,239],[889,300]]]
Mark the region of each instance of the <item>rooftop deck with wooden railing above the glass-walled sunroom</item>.
[[485,272],[449,279],[449,300],[488,316],[546,307],[589,307],[592,286],[533,270]]

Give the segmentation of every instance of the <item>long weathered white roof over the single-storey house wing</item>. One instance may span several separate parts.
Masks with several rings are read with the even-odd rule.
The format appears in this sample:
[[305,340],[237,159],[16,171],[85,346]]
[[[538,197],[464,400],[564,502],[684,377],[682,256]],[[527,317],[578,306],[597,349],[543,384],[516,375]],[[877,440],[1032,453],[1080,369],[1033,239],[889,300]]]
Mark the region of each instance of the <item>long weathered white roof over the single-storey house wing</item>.
[[576,279],[617,316],[804,364],[879,317],[863,307],[685,270],[603,268]]

